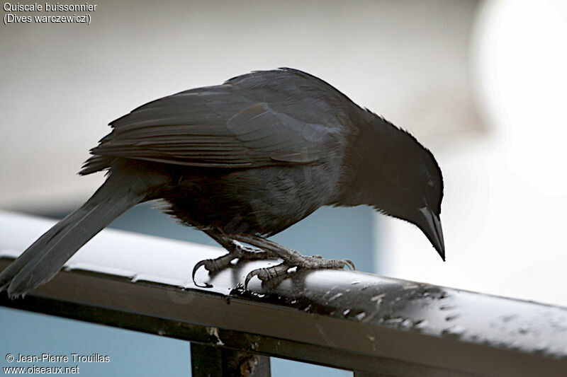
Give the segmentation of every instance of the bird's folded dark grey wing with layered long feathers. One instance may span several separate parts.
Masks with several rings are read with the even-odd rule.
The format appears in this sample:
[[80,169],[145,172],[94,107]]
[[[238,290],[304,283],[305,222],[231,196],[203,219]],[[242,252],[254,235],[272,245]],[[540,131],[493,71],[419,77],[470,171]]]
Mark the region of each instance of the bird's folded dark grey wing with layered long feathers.
[[298,120],[293,106],[282,111],[279,103],[252,97],[223,84],[147,103],[111,122],[113,132],[91,151],[91,159],[242,168],[313,163],[331,152],[333,127]]

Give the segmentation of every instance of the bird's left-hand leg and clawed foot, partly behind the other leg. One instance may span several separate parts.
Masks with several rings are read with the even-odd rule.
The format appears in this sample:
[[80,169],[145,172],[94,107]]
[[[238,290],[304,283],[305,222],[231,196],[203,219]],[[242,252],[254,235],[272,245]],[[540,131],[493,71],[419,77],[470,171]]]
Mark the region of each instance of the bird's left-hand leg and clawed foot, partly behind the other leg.
[[266,260],[266,259],[276,259],[277,254],[271,253],[267,250],[260,250],[257,248],[250,248],[249,246],[244,246],[237,240],[232,240],[232,238],[226,236],[223,233],[217,233],[213,231],[205,231],[205,233],[217,241],[223,248],[228,250],[228,254],[223,255],[215,259],[206,259],[198,262],[195,267],[193,267],[193,282],[195,282],[195,273],[199,267],[204,266],[209,272],[216,272],[224,269],[230,265],[230,262],[235,259],[239,260]]

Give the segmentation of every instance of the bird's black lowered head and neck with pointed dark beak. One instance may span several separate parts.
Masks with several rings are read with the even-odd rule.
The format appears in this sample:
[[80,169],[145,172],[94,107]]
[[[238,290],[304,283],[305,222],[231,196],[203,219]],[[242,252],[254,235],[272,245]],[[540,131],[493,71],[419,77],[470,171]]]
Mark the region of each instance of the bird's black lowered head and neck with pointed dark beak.
[[437,161],[415,137],[383,118],[374,115],[371,126],[359,134],[358,148],[350,154],[356,173],[347,205],[369,204],[415,224],[445,260],[439,219],[443,178]]

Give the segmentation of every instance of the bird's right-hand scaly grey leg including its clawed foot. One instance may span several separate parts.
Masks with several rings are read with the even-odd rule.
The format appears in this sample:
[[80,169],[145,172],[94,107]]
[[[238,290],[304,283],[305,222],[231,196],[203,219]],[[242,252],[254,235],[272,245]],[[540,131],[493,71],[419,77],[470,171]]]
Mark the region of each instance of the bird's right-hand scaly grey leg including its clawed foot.
[[247,243],[249,245],[256,246],[257,248],[261,248],[262,250],[274,253],[281,257],[281,259],[283,259],[283,263],[281,263],[280,265],[254,269],[253,271],[249,272],[245,279],[245,288],[248,286],[248,282],[250,281],[250,279],[252,279],[252,277],[257,276],[258,279],[266,281],[269,279],[274,279],[274,277],[281,277],[287,274],[288,269],[292,267],[308,269],[342,269],[344,267],[349,267],[349,269],[354,269],[354,263],[350,260],[326,260],[323,259],[320,255],[305,257],[296,252],[296,250],[291,250],[271,240],[266,240],[266,238],[249,236],[246,234],[231,235],[231,238]]

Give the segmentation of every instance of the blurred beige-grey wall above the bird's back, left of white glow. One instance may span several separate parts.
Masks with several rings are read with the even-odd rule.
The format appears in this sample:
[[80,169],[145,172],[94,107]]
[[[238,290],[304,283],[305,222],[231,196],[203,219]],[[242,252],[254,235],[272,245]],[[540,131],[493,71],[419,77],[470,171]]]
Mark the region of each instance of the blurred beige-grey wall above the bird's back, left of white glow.
[[309,71],[431,146],[480,128],[467,69],[477,1],[96,4],[91,25],[2,26],[0,207],[82,202],[103,177],[76,173],[108,122],[254,69]]

